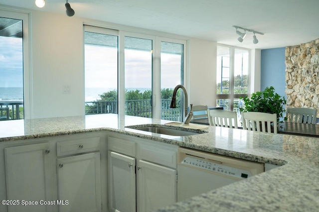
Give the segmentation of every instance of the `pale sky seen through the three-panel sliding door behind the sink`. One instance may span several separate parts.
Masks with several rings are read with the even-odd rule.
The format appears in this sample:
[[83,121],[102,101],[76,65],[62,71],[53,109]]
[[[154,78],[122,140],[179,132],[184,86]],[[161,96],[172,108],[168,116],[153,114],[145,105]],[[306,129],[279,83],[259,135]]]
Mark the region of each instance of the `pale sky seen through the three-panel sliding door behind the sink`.
[[[161,88],[180,84],[180,55],[161,54]],[[117,88],[117,49],[85,46],[85,87]],[[125,50],[125,87],[152,88],[152,53]]]

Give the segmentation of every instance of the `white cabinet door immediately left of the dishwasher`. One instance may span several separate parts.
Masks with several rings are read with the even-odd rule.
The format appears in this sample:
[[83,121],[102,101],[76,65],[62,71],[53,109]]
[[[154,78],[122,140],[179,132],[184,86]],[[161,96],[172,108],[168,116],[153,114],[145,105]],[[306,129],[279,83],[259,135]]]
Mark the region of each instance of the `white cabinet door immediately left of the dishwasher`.
[[176,203],[177,172],[139,160],[137,164],[137,211],[150,212]]

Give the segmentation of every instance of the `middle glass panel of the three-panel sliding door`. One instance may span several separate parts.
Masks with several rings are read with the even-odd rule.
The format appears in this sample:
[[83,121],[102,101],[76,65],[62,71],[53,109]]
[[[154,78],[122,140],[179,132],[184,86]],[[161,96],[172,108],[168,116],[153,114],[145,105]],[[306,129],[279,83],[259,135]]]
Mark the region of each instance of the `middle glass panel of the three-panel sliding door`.
[[125,114],[152,117],[153,40],[125,36]]

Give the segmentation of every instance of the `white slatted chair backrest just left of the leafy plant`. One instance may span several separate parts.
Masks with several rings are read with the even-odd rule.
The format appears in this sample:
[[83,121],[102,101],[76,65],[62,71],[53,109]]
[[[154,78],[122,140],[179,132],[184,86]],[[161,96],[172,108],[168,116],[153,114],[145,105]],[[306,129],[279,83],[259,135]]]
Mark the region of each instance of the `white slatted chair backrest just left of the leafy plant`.
[[209,109],[208,110],[209,125],[224,126],[230,128],[238,128],[237,113],[228,110]]

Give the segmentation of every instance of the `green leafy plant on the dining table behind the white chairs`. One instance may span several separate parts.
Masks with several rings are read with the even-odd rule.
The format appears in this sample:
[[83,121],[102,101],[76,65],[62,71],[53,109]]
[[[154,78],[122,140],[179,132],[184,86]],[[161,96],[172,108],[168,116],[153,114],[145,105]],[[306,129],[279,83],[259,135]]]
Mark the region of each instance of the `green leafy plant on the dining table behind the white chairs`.
[[[262,92],[256,92],[250,98],[241,98],[244,102],[244,107],[240,111],[244,112],[267,112],[276,113],[277,120],[283,117],[285,112],[286,100],[285,97],[280,96],[275,92],[274,87],[266,87]],[[287,117],[284,117],[287,120]]]

